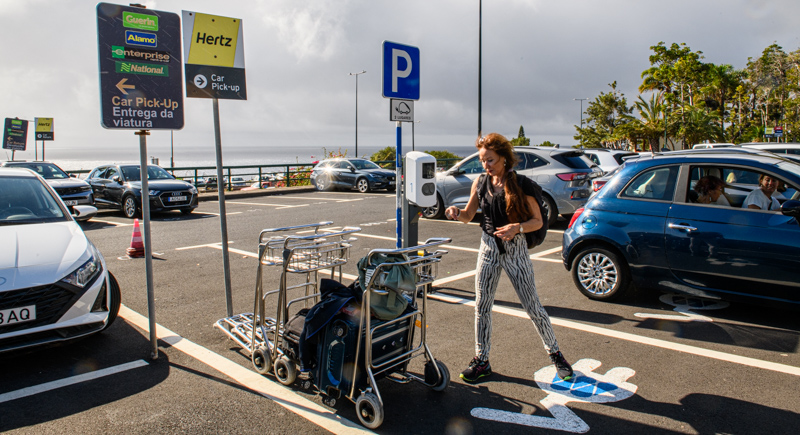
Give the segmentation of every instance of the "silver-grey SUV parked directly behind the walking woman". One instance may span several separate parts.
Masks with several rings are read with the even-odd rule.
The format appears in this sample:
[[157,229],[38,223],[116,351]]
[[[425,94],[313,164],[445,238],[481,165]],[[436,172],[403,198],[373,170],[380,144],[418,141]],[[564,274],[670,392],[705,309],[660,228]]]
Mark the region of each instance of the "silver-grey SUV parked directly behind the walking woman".
[[[591,180],[603,171],[583,150],[551,147],[516,147],[519,158],[515,167],[520,175],[537,182],[543,191],[548,222],[558,215],[571,215],[582,207],[591,194]],[[425,208],[422,215],[440,219],[451,205],[466,207],[472,181],[484,172],[478,153],[472,154],[444,172],[436,173],[436,205]]]

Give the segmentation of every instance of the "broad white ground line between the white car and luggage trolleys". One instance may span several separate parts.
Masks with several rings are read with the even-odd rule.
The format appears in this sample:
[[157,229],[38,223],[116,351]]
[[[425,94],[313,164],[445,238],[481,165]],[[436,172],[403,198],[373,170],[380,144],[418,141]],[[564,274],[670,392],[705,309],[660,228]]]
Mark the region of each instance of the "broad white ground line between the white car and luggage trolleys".
[[[123,305],[120,307],[119,316],[149,333],[149,321],[141,314]],[[156,324],[156,335],[172,348],[202,362],[240,385],[261,394],[325,430],[335,434],[372,433],[356,423],[342,418],[315,402],[298,395],[292,390],[246,369],[197,343],[189,341],[159,324]]]

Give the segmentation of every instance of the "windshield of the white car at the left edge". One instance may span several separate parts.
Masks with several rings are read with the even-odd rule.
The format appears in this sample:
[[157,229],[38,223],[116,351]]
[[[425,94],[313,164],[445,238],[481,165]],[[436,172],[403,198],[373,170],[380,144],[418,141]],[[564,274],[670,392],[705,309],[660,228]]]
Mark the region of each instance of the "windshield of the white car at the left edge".
[[37,178],[0,177],[0,225],[69,220],[47,187]]

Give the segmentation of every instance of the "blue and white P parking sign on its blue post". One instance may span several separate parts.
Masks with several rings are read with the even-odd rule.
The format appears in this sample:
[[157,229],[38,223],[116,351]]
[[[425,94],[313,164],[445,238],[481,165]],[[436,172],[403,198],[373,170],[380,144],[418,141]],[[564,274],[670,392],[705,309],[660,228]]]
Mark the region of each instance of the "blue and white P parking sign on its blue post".
[[389,119],[396,122],[397,147],[395,172],[397,179],[397,243],[408,246],[409,210],[406,200],[403,168],[402,122],[414,122],[414,102],[419,100],[419,48],[396,42],[383,41],[383,97],[390,102]]

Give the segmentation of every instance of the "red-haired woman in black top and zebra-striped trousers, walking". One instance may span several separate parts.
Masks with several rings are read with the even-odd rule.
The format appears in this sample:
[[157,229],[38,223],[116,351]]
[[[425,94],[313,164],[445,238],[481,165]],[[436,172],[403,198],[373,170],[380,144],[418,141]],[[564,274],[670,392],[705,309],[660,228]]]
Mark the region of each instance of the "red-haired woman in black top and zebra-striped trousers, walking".
[[448,219],[464,223],[472,220],[478,207],[483,211],[483,233],[475,275],[475,358],[461,373],[461,379],[476,382],[492,374],[489,364],[491,313],[500,269],[503,268],[539,331],[558,376],[569,380],[572,367],[558,350],[550,318],[539,302],[533,265],[525,242],[524,233],[542,226],[542,213],[533,196],[536,186],[527,177],[518,176],[511,170],[517,158],[511,143],[502,135],[489,134],[478,139],[475,146],[486,174],[472,183],[466,208],[451,206],[445,210]]

